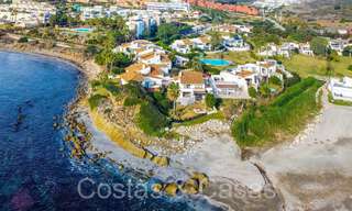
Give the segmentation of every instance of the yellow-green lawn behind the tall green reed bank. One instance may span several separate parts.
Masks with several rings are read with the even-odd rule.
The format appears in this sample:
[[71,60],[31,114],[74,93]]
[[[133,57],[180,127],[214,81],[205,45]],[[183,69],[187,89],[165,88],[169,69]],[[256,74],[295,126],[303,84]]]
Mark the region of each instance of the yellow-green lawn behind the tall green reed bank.
[[[334,76],[350,76],[352,71],[348,69],[352,65],[352,58],[339,57],[339,62],[332,62]],[[289,71],[297,73],[301,77],[327,76],[327,60],[320,57],[305,55],[294,55],[292,58],[283,59],[283,64]]]

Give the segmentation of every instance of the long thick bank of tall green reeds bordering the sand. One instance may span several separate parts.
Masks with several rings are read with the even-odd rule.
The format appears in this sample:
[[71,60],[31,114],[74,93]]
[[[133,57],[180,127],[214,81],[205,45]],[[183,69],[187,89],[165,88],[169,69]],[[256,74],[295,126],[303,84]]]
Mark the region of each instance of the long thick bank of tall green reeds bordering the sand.
[[288,88],[267,107],[252,107],[232,124],[232,134],[241,146],[275,141],[277,134],[295,134],[319,106],[316,93],[322,84],[307,78]]

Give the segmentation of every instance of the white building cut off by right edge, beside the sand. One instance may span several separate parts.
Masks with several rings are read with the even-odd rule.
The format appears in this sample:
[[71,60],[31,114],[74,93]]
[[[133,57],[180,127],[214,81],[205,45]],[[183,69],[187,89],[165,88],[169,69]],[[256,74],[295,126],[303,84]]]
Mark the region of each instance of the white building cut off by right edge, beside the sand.
[[352,78],[332,78],[329,84],[329,90],[336,100],[352,101]]

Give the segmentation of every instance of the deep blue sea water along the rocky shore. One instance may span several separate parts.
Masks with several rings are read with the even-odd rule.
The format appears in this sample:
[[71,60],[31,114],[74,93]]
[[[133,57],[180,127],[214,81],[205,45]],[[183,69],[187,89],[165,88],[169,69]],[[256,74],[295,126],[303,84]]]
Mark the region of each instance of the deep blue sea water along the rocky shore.
[[[97,197],[99,185],[120,184],[131,192],[147,186],[134,174],[120,173],[108,160],[92,165],[69,156],[63,115],[76,95],[77,69],[41,56],[0,52],[0,210],[215,210],[186,198]],[[133,176],[132,176],[133,175]],[[89,199],[84,196],[96,193]],[[87,181],[87,180],[86,180]],[[109,188],[99,189],[109,196]],[[196,207],[197,206],[197,207]]]

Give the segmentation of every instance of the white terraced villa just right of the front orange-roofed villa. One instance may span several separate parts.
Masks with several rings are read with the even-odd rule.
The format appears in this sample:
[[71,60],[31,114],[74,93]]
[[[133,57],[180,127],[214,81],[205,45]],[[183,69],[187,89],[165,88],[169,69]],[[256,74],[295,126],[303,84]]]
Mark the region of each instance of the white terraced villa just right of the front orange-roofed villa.
[[230,71],[221,71],[209,78],[212,93],[217,98],[249,99],[246,80]]

